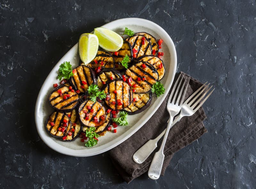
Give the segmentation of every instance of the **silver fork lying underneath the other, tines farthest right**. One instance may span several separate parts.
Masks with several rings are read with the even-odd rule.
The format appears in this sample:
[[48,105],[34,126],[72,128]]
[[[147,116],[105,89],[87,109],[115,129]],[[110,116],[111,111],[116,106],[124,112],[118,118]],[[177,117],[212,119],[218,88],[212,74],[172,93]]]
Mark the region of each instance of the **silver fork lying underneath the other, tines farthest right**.
[[[184,116],[192,116],[207,100],[207,98],[212,94],[213,90],[205,97],[205,95],[210,91],[212,86],[208,88],[209,84],[202,85],[199,89],[196,90],[181,106],[180,114],[174,119],[172,126],[175,125],[180,119]],[[206,90],[206,91],[205,91]],[[205,92],[204,92],[205,91]],[[202,94],[204,92],[204,94]],[[201,97],[197,100],[197,98],[201,95]],[[205,98],[204,98],[205,97]],[[202,99],[204,100],[200,102]],[[192,104],[194,105],[192,106]],[[197,105],[198,104],[198,105]],[[196,106],[197,105],[197,106]],[[196,108],[195,108],[196,107]],[[154,140],[148,140],[140,149],[138,149],[134,155],[133,160],[136,163],[143,163],[148,156],[156,149],[157,142],[164,136],[165,130]]]

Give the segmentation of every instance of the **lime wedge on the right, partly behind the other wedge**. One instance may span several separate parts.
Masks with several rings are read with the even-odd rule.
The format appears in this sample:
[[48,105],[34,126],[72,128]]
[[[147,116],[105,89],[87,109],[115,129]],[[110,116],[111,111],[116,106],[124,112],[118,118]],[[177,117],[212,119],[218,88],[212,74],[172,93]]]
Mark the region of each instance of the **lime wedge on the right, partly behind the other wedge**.
[[115,52],[119,50],[124,42],[119,34],[104,27],[95,28],[94,34],[99,39],[99,46],[107,51]]

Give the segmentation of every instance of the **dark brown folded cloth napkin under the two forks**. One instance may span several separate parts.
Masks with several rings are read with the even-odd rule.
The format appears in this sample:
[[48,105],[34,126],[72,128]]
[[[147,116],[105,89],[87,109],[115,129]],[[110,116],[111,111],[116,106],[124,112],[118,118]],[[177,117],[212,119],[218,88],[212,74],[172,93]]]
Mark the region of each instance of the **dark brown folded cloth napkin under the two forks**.
[[[180,73],[187,75],[183,72]],[[179,74],[176,74],[174,81],[176,81],[178,75]],[[190,77],[185,100],[201,86],[202,83]],[[171,90],[168,94],[170,94],[170,92]],[[148,140],[155,139],[167,127],[169,113],[166,109],[166,104],[168,97],[169,95],[167,95],[156,113],[145,125],[143,125],[129,139],[109,150],[109,155],[114,166],[127,183],[130,183],[134,178],[139,177],[149,169],[150,163],[155,154],[154,152],[141,164],[135,163],[132,159],[132,155]],[[169,165],[175,152],[197,140],[207,132],[203,124],[203,120],[205,118],[204,110],[201,107],[194,115],[190,117],[183,117],[178,123],[173,125],[164,147],[165,158],[161,172],[162,176],[164,175],[165,169]],[[162,140],[158,142],[158,147],[155,152],[158,151],[161,142]]]

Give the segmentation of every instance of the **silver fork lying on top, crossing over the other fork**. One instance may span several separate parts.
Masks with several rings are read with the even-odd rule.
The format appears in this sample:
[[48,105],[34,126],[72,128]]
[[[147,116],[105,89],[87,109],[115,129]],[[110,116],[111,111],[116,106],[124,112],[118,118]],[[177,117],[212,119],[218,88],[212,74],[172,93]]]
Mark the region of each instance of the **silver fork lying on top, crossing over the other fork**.
[[[154,156],[154,158],[151,162],[151,165],[149,167],[149,170],[148,170],[148,177],[151,178],[151,179],[157,179],[157,178],[159,178],[159,176],[161,174],[162,166],[163,166],[163,163],[164,163],[165,142],[167,140],[169,130],[172,126],[173,117],[176,116],[180,112],[181,106],[183,104],[183,101],[184,101],[184,98],[185,98],[185,95],[186,95],[186,92],[187,92],[187,89],[188,89],[188,82],[187,82],[187,86],[186,86],[186,88],[183,92],[183,95],[181,97],[181,94],[182,94],[182,91],[183,91],[183,88],[185,86],[185,83],[186,83],[186,80],[187,80],[188,76],[186,77],[186,79],[184,81],[183,81],[183,77],[184,77],[184,75],[180,79],[180,75],[179,75],[177,81],[175,82],[175,84],[172,88],[172,92],[171,92],[169,100],[167,102],[167,110],[170,114],[170,119],[169,119],[167,128],[165,130],[164,139],[162,141],[161,147],[160,147],[159,151],[156,152],[156,154],[155,154],[155,156]],[[179,82],[179,85],[176,89],[176,86],[177,86],[177,83],[178,83],[179,79],[180,79],[180,82]],[[188,79],[188,81],[189,81],[189,79]],[[183,85],[180,89],[180,85],[182,84],[182,82],[183,82]],[[176,91],[175,91],[175,89],[176,89]],[[175,92],[175,94],[174,94],[174,92]],[[173,94],[174,94],[174,96],[173,96]],[[178,95],[178,97],[177,97],[177,95]],[[176,100],[176,97],[177,97],[177,100]],[[181,102],[180,102],[180,99],[181,99]]]

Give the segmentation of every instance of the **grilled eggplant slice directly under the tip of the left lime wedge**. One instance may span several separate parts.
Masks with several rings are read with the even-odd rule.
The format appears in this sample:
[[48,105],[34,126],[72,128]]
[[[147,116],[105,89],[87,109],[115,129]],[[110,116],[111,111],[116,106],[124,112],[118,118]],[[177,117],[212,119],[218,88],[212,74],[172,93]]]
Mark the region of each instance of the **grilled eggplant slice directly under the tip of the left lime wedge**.
[[[83,62],[81,62],[80,64],[84,65]],[[98,67],[115,68],[115,60],[108,51],[98,50],[96,57],[92,60],[92,62],[87,64],[87,66],[92,68],[93,70]]]

